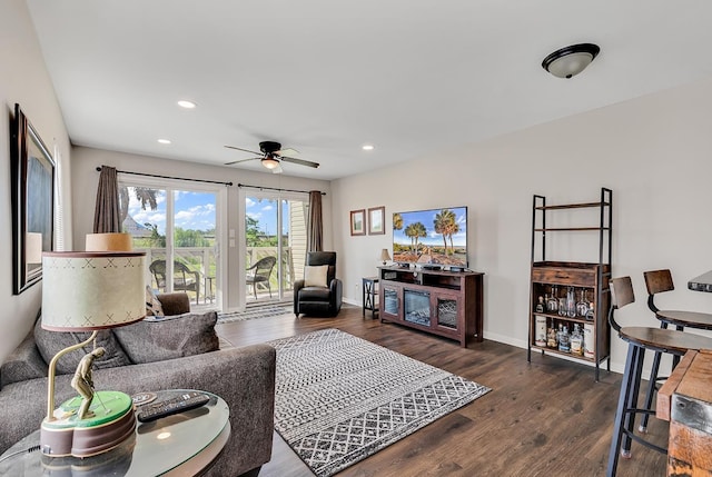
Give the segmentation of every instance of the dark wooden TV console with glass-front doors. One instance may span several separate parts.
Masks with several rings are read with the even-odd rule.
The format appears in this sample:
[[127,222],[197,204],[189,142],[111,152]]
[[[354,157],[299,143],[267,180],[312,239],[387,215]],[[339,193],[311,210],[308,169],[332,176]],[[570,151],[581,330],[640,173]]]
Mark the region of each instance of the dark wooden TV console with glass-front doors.
[[459,341],[482,341],[483,277],[477,271],[378,267],[380,321]]

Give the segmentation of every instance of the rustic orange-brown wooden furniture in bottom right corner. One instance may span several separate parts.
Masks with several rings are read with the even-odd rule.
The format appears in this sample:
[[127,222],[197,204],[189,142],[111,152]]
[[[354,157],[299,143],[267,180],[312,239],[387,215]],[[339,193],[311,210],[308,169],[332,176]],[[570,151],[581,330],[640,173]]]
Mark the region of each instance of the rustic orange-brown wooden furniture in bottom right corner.
[[712,474],[712,350],[688,351],[657,392],[656,416],[670,421],[668,475]]

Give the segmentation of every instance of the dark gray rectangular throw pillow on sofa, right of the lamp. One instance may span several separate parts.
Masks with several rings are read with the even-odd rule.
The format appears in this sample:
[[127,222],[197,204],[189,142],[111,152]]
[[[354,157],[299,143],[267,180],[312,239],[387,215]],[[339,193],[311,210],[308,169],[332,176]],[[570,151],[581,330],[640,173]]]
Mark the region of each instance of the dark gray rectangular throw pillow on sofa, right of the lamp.
[[113,334],[134,362],[154,362],[219,349],[217,311],[146,318]]

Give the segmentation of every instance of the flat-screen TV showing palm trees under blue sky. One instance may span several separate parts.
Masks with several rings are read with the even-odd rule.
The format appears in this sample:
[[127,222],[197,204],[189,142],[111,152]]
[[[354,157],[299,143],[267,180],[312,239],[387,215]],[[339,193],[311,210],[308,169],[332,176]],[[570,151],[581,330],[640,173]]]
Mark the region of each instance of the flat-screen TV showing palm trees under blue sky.
[[467,207],[394,213],[393,261],[467,267]]

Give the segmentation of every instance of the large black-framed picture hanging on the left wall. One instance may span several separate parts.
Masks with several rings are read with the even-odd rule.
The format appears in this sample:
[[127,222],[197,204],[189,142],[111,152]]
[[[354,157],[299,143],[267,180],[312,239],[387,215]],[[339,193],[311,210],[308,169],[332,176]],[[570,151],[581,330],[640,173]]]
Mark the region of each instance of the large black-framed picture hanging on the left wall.
[[20,105],[10,121],[10,156],[13,292],[20,295],[42,279],[42,251],[55,240],[55,161]]

